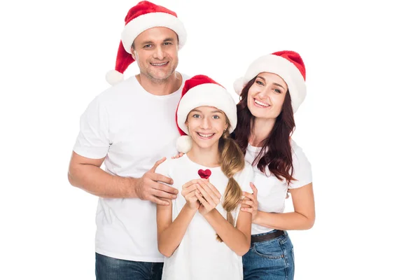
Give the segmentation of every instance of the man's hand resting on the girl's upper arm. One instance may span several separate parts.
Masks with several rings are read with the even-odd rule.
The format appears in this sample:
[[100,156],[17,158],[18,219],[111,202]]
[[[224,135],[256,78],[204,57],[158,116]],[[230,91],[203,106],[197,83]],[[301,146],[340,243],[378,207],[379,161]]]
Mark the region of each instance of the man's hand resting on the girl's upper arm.
[[172,185],[174,181],[167,176],[155,173],[156,168],[165,160],[166,158],[162,158],[155,162],[155,165],[153,165],[143,177],[137,179],[134,190],[137,197],[141,200],[150,200],[156,204],[169,205],[169,202],[162,200],[161,198],[167,198],[169,200],[174,200],[176,198],[178,190],[165,185],[165,183]]

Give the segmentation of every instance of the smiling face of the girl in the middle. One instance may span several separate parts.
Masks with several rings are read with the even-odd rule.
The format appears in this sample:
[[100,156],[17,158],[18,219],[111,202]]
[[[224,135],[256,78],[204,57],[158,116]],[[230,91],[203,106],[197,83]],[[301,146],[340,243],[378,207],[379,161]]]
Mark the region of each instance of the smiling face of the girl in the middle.
[[196,144],[200,148],[218,147],[218,140],[223,131],[228,129],[225,113],[210,106],[200,106],[191,110],[186,125],[193,145]]

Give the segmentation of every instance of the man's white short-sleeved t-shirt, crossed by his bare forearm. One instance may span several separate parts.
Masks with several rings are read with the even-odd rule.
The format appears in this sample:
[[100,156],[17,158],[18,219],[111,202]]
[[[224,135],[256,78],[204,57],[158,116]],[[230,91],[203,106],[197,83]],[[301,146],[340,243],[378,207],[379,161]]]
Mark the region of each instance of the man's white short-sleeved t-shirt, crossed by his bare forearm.
[[[183,82],[187,79],[183,76]],[[157,160],[176,155],[175,111],[183,85],[157,96],[135,76],[99,94],[80,118],[73,151],[105,158],[109,174],[140,178]],[[111,258],[163,262],[156,239],[156,206],[138,198],[99,197],[96,252]]]

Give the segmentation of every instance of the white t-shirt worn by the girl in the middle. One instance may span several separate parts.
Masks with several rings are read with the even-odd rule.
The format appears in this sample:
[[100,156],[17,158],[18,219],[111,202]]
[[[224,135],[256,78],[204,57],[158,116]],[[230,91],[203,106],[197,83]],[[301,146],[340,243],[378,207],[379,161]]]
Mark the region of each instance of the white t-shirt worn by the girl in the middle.
[[[193,179],[200,179],[199,169],[210,169],[209,178],[222,195],[228,185],[228,178],[221,171],[221,167],[204,167],[192,162],[187,155],[176,160],[163,162],[157,172],[169,176],[174,180],[174,188],[179,189],[176,200],[172,200],[172,221],[178,216],[179,212],[186,204],[185,198],[181,195],[184,183]],[[253,169],[246,163],[244,170],[234,176],[242,190],[250,192],[249,183],[253,181]],[[232,211],[232,216],[237,221],[239,207]],[[226,218],[226,211],[222,203],[216,209]],[[176,248],[170,258],[165,258],[163,266],[162,280],[214,280],[243,279],[242,258],[232,251],[224,242],[216,240],[216,231],[197,211],[193,220],[188,225],[186,234],[181,244]]]

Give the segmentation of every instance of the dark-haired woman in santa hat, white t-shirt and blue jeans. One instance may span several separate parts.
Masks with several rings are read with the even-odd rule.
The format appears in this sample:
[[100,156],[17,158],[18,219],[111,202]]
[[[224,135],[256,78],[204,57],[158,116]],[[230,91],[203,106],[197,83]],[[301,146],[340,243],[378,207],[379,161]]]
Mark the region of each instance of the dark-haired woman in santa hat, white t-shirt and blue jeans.
[[[252,214],[251,248],[244,255],[244,279],[293,279],[293,244],[287,230],[314,225],[311,165],[290,138],[295,113],[306,96],[305,67],[297,52],[256,59],[235,82],[240,94],[235,139],[255,172],[253,194],[242,211]],[[288,193],[294,211],[283,213]]]

